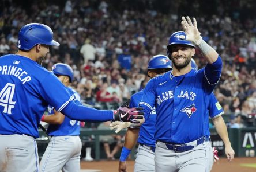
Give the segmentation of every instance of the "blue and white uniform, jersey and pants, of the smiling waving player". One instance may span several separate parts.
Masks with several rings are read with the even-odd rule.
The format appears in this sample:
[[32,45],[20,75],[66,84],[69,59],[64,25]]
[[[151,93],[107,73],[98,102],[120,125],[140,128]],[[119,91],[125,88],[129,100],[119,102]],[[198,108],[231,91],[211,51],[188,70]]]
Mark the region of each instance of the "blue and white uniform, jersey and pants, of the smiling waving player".
[[[215,71],[211,73],[209,68],[214,68]],[[183,161],[189,161],[189,159],[191,163],[201,159],[205,161],[202,170],[210,169],[210,163],[206,163],[213,157],[210,142],[206,142],[210,140],[207,126],[208,105],[220,74],[221,59],[219,57],[216,62],[198,71],[191,69],[189,73],[182,76],[173,76],[172,71],[169,71],[151,79],[146,85],[140,106],[144,108],[146,121],[154,107],[157,112],[156,171],[186,169],[186,163]],[[174,146],[175,144],[182,144],[182,146]],[[206,154],[200,154],[200,150],[204,150]],[[180,154],[181,157],[184,155],[183,161],[176,161],[176,154]],[[163,159],[163,156],[167,159]],[[166,165],[167,169],[157,167],[157,164],[163,167],[163,163],[169,163]]]

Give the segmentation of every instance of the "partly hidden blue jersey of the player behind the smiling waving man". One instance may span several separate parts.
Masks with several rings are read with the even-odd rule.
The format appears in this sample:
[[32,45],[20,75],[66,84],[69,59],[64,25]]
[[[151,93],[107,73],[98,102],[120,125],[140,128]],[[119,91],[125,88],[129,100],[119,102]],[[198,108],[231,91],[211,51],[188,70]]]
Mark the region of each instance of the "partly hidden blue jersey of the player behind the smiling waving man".
[[[133,96],[131,96],[131,101],[129,104],[129,107],[138,107],[138,104],[140,103],[140,100],[143,96],[144,89],[142,89],[140,92],[135,93]],[[155,147],[156,140],[154,138],[155,131],[156,131],[156,110],[153,108],[153,111],[151,112],[148,120],[145,121],[140,126],[140,132],[138,137],[138,142],[145,144],[147,146],[153,146]]]

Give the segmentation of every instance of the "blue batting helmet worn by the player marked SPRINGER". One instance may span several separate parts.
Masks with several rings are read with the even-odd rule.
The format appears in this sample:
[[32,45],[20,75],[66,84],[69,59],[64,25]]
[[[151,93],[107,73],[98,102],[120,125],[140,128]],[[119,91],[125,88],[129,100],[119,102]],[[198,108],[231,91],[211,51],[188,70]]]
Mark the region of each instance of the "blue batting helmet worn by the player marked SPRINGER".
[[17,48],[30,50],[36,44],[56,45],[51,28],[44,24],[31,23],[23,26],[18,32]]

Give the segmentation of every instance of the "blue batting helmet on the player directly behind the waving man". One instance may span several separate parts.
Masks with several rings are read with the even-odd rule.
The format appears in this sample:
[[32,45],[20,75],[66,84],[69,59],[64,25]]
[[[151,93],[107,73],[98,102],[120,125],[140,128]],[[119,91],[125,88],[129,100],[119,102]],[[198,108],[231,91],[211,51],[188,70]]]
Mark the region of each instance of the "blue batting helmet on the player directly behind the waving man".
[[171,60],[164,55],[156,55],[150,58],[148,62],[148,69],[160,69],[169,68],[172,69]]

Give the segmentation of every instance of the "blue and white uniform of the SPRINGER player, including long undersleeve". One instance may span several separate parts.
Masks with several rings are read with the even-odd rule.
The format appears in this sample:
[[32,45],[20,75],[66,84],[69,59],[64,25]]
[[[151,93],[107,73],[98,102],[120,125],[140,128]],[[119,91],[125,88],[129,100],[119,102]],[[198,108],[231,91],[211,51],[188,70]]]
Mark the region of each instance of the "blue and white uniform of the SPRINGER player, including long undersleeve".
[[73,99],[58,78],[37,62],[17,54],[0,57],[0,171],[39,170],[35,138],[48,104],[75,120],[114,118],[113,111],[79,106]]

